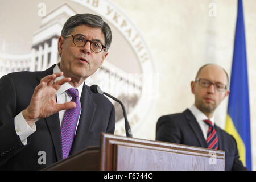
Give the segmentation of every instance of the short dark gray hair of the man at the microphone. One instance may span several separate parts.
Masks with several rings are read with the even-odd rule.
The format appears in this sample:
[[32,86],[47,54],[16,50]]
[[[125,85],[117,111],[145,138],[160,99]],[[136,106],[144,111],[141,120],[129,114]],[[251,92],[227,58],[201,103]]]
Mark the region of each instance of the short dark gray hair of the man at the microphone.
[[92,28],[101,28],[102,33],[105,36],[105,46],[106,51],[108,51],[110,44],[112,42],[112,32],[109,25],[104,22],[101,16],[93,15],[89,13],[76,14],[71,16],[64,24],[61,31],[61,36],[64,38],[71,34],[75,27],[85,24]]

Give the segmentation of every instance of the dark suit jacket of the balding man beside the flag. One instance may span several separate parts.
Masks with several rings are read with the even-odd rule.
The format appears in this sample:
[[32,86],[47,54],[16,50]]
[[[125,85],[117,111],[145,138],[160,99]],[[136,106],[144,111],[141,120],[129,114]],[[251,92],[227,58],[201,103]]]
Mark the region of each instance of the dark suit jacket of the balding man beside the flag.
[[[218,134],[219,150],[225,151],[226,170],[246,170],[239,160],[236,140],[214,125]],[[207,148],[201,128],[189,109],[183,113],[164,115],[156,124],[156,140]]]

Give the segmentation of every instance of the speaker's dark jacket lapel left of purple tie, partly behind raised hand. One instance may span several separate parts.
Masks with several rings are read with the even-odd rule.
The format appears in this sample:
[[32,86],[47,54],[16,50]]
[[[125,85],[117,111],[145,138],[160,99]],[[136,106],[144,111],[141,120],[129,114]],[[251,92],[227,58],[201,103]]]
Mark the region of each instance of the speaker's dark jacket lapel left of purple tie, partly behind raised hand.
[[[46,71],[39,72],[39,75],[34,84],[34,88],[40,83],[40,80],[47,76],[51,75],[53,73],[53,68],[56,64],[52,65],[51,68],[46,69]],[[49,133],[51,134],[53,146],[55,148],[55,154],[57,160],[62,159],[62,148],[61,148],[61,129],[60,129],[60,118],[59,113],[53,114],[47,118],[44,118],[46,121],[46,125],[48,126]]]

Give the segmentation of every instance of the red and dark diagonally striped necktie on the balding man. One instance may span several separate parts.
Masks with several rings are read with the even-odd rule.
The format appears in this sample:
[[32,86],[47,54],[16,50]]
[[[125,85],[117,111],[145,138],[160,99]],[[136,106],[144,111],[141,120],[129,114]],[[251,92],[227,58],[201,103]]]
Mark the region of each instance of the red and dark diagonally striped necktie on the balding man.
[[209,119],[204,120],[204,122],[209,126],[207,131],[207,146],[210,149],[218,150],[218,135],[216,129]]

